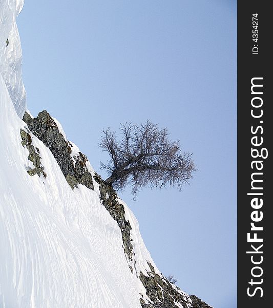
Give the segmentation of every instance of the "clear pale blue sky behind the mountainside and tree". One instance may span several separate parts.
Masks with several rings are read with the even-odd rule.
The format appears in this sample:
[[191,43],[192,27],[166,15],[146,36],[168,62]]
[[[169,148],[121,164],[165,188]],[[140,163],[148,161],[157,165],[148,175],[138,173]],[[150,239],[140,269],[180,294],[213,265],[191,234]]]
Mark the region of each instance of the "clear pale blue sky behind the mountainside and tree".
[[182,192],[121,197],[160,271],[215,308],[237,300],[236,4],[25,0],[17,22],[30,111],[57,118],[95,170],[102,129],[125,122],[150,119],[194,153]]

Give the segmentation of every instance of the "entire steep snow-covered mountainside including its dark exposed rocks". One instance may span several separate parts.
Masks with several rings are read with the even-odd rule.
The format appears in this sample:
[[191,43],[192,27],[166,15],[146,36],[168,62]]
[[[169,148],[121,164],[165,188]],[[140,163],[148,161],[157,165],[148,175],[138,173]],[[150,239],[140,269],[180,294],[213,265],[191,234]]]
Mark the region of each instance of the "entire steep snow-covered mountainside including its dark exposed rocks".
[[0,0],[0,307],[209,307],[160,273],[133,213],[60,123],[28,112],[23,4]]

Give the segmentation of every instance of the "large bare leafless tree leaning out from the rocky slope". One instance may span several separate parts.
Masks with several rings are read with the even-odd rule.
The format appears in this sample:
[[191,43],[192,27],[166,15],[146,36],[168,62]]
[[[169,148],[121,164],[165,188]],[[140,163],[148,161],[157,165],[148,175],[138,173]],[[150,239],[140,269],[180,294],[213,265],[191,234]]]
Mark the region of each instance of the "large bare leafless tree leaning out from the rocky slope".
[[101,164],[109,178],[104,182],[122,190],[131,185],[132,194],[145,186],[165,187],[167,184],[181,189],[188,183],[196,167],[192,154],[181,153],[179,141],[170,141],[166,128],[159,129],[149,120],[144,125],[121,124],[121,140],[109,128],[103,130],[100,147],[111,160]]

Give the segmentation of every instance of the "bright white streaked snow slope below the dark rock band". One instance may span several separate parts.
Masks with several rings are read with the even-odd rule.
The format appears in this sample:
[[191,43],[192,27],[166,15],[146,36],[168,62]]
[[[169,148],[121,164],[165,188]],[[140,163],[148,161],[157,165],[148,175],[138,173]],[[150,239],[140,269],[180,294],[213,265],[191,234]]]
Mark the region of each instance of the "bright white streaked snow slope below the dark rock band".
[[48,176],[28,175],[25,125],[2,76],[0,92],[0,306],[140,307],[116,222],[96,192],[70,188],[35,137]]

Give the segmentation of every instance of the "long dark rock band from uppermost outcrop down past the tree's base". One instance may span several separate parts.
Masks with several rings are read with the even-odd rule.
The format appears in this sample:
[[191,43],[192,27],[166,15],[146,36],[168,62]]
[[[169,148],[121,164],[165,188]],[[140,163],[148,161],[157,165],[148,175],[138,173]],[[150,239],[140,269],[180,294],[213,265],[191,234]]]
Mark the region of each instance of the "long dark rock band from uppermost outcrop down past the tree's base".
[[[34,119],[26,112],[23,120],[28,124],[30,131],[51,150],[72,189],[77,187],[77,184],[82,184],[94,190],[92,175],[86,168],[87,157],[79,152],[79,156],[74,157],[75,164],[73,163],[71,158],[71,145],[62,136],[56,123],[46,110],[39,112],[37,118]],[[111,185],[105,184],[97,174],[94,175],[94,180],[99,184],[101,203],[106,207],[120,227],[124,253],[132,261],[133,245],[130,237],[131,225],[125,219],[124,207],[118,202],[116,191]],[[133,272],[131,266],[130,268]]]

